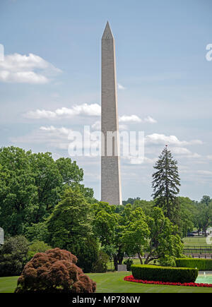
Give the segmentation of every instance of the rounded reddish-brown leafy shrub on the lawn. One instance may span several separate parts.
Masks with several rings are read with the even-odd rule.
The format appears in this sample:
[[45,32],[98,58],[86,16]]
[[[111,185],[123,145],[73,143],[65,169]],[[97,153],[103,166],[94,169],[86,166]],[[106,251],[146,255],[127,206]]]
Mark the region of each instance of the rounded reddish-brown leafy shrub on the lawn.
[[16,293],[93,293],[96,284],[76,266],[69,251],[37,253],[18,278]]

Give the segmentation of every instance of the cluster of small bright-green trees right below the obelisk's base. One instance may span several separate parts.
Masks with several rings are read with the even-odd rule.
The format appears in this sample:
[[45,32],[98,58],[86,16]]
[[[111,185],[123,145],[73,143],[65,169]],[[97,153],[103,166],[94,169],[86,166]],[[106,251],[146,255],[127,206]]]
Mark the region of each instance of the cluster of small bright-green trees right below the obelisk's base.
[[122,264],[124,253],[129,257],[148,253],[146,264],[167,257],[179,258],[183,244],[177,227],[163,215],[163,210],[153,207],[151,216],[146,216],[140,207],[125,205],[116,213],[115,206],[107,203],[93,205],[93,231],[102,248],[114,260],[114,267]]

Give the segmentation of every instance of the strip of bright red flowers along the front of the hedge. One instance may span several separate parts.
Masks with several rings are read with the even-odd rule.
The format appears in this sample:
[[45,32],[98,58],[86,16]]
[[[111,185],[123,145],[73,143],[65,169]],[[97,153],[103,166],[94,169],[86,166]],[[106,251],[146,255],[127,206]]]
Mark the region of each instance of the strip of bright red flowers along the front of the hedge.
[[124,277],[126,282],[138,282],[140,284],[163,284],[165,286],[184,286],[184,287],[206,287],[212,288],[212,284],[196,284],[196,282],[185,282],[181,284],[180,282],[153,282],[151,280],[141,280],[135,279],[133,275]]

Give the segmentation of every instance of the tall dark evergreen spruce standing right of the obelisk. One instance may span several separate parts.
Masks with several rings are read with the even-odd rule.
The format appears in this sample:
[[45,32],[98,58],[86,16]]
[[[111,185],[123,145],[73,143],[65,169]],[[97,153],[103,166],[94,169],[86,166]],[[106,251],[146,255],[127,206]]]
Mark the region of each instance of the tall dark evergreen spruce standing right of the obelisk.
[[177,195],[179,194],[180,179],[177,161],[173,159],[170,150],[167,149],[167,145],[159,156],[154,169],[157,170],[153,174],[152,182],[152,196],[155,199],[155,204],[163,209],[165,217],[178,224],[179,203]]

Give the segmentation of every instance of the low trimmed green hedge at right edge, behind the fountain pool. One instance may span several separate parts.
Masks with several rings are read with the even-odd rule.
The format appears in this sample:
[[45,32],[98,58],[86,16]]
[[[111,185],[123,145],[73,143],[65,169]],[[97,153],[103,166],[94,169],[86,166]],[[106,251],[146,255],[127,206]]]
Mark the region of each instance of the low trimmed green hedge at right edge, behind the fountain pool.
[[212,270],[212,259],[178,258],[175,262],[177,267],[197,267],[201,271]]

